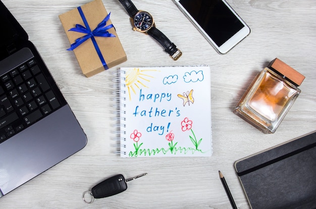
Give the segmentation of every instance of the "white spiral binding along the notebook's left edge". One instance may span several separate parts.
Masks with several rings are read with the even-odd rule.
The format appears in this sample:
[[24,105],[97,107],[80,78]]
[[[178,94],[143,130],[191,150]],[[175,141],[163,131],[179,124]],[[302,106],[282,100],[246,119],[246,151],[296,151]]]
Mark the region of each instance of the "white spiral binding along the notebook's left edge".
[[[119,70],[114,73],[114,101],[115,101],[115,111],[113,114],[115,115],[114,121],[116,122],[114,124],[114,134],[116,135],[115,138],[113,138],[114,141],[117,141],[117,144],[114,145],[114,147],[117,148],[117,150],[114,152],[115,154],[126,154],[125,151],[122,149],[125,148],[124,141],[126,141],[126,138],[121,137],[122,134],[125,134],[125,127],[126,125],[124,124],[125,121],[125,100],[126,100],[126,91],[123,90],[122,88],[125,87],[125,71]],[[122,82],[123,81],[123,82]]]

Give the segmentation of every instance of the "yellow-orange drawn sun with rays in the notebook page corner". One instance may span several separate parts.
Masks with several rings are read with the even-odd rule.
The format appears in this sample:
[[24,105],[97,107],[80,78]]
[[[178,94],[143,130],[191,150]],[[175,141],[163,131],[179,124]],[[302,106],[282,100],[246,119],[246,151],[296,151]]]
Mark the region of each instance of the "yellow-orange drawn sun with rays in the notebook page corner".
[[131,92],[136,94],[135,89],[141,89],[142,87],[149,88],[144,82],[150,82],[150,78],[153,76],[148,75],[150,71],[157,70],[140,70],[139,68],[130,69],[126,72],[125,85],[128,89],[129,100],[131,100]]

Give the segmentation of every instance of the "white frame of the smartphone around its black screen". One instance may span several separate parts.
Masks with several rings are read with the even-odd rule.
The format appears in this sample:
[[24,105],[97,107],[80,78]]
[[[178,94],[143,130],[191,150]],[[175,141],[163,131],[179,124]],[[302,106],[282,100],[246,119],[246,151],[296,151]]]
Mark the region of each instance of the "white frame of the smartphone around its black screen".
[[173,0],[174,3],[178,6],[178,8],[183,12],[185,16],[193,23],[193,25],[200,31],[200,33],[205,37],[205,39],[216,49],[219,54],[226,54],[229,50],[231,50],[234,46],[236,46],[240,41],[242,41],[245,37],[250,34],[249,26],[239,17],[239,15],[231,8],[231,6],[225,1],[221,0],[232,12],[233,14],[240,20],[240,22],[244,25],[244,27],[239,30],[235,35],[233,35],[230,39],[226,40],[224,44],[218,46],[212,38],[210,38],[207,33],[201,28],[201,26],[194,20],[194,18],[187,12],[187,10],[179,3],[180,0]]

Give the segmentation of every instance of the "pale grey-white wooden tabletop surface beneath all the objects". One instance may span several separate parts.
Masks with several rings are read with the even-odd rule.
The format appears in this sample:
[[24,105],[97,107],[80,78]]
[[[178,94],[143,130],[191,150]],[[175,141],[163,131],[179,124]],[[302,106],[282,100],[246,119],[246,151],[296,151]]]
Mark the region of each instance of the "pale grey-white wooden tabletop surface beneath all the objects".
[[[88,0],[2,0],[35,44],[87,134],[84,149],[0,198],[1,208],[230,208],[218,171],[238,208],[249,208],[234,162],[316,129],[316,1],[228,0],[251,33],[219,55],[172,0],[134,0],[150,12],[183,56],[173,61],[150,36],[134,32],[117,0],[103,0],[128,61],[90,78],[82,75],[58,15]],[[2,29],[3,30],[3,29]],[[265,135],[232,113],[255,74],[275,58],[306,78],[293,107],[274,134]],[[213,156],[121,159],[113,152],[113,73],[119,67],[209,65]],[[81,199],[96,183],[122,173],[127,191],[88,205]]]

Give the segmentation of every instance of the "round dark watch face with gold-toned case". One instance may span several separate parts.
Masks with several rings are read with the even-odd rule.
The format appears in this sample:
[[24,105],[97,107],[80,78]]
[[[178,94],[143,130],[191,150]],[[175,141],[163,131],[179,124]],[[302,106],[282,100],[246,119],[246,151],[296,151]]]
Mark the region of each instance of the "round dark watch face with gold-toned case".
[[149,30],[153,25],[151,15],[144,11],[139,11],[136,13],[132,22],[134,29],[142,32]]

